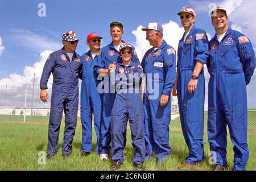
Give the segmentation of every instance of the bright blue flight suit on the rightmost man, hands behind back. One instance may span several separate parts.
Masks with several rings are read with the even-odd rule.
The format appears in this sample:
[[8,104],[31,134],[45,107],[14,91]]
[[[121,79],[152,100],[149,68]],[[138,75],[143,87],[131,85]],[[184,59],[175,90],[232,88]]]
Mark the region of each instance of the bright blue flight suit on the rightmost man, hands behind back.
[[226,125],[234,144],[236,170],[244,170],[249,158],[247,146],[246,85],[253,75],[256,60],[250,40],[228,28],[218,42],[215,35],[209,42],[210,73],[208,92],[208,140],[216,154],[214,163],[226,165]]

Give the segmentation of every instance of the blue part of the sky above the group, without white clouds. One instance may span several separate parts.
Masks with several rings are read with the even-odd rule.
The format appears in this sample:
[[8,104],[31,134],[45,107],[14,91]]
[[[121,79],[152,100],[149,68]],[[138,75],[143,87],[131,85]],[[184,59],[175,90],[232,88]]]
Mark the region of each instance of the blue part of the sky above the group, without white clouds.
[[[46,17],[38,16],[38,4],[46,4]],[[10,73],[23,74],[26,65],[37,61],[39,53],[46,47],[34,47],[22,40],[24,36],[41,36],[52,43],[61,43],[61,34],[67,30],[75,30],[81,38],[77,52],[84,53],[87,49],[85,38],[89,32],[96,31],[103,36],[104,44],[111,41],[109,23],[118,20],[125,26],[123,39],[135,43],[135,36],[131,31],[140,25],[147,26],[148,22],[168,23],[170,20],[179,23],[177,12],[183,6],[191,6],[189,1],[32,1],[32,0],[2,0],[0,6],[0,36],[5,46],[0,57],[0,79],[8,77]],[[195,7],[196,10],[196,7]],[[196,25],[205,31],[213,33],[207,13],[197,14]],[[22,33],[23,32],[23,33]],[[19,38],[16,38],[19,36]],[[36,40],[35,40],[36,41]],[[38,44],[38,43],[35,43]],[[58,48],[58,47],[53,47]],[[50,48],[51,51],[55,51]]]

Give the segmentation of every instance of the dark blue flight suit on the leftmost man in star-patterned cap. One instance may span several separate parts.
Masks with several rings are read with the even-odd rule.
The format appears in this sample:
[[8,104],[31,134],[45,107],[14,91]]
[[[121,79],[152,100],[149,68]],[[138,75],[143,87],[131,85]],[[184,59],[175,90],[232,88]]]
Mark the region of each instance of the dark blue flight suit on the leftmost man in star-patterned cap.
[[81,56],[76,52],[70,63],[64,47],[52,52],[44,64],[40,88],[47,89],[49,76],[53,75],[51,112],[49,115],[48,155],[57,153],[59,144],[60,123],[65,113],[65,130],[63,154],[70,154],[75,135],[77,110],[79,105],[79,72],[81,71]]

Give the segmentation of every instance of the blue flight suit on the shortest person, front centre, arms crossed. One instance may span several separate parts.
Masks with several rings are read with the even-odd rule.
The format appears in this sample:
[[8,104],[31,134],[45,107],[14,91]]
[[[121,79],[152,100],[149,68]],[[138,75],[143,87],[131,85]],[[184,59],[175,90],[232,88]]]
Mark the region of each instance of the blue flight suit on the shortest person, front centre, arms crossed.
[[[120,63],[121,62],[121,63]],[[114,74],[113,74],[114,73]],[[126,67],[122,60],[117,64],[110,79],[115,87],[115,99],[111,114],[112,160],[123,162],[127,120],[130,122],[131,140],[134,147],[133,163],[144,162],[144,113],[139,85],[143,70],[141,64],[133,61]],[[114,82],[115,81],[115,82]]]

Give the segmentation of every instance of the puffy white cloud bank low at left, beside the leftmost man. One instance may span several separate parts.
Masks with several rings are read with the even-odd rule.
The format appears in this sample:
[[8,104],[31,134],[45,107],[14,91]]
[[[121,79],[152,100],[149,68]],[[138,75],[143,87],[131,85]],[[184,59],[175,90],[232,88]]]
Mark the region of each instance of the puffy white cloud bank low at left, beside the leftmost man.
[[[27,90],[27,106],[31,106],[32,100],[32,84],[34,81],[35,73],[35,92],[34,92],[34,107],[49,107],[49,102],[43,104],[39,99],[39,82],[41,74],[43,71],[44,63],[46,62],[49,54],[52,51],[43,51],[40,53],[40,60],[37,61],[34,65],[26,66],[23,71],[23,75],[17,73],[12,73],[7,78],[2,78],[0,80],[0,102],[2,105],[4,96],[6,95],[6,106],[24,106],[25,98],[25,88],[30,84]],[[52,75],[48,81],[48,87],[51,88]],[[5,93],[5,85],[7,85],[7,90]],[[49,89],[49,94],[51,94],[51,89]]]

